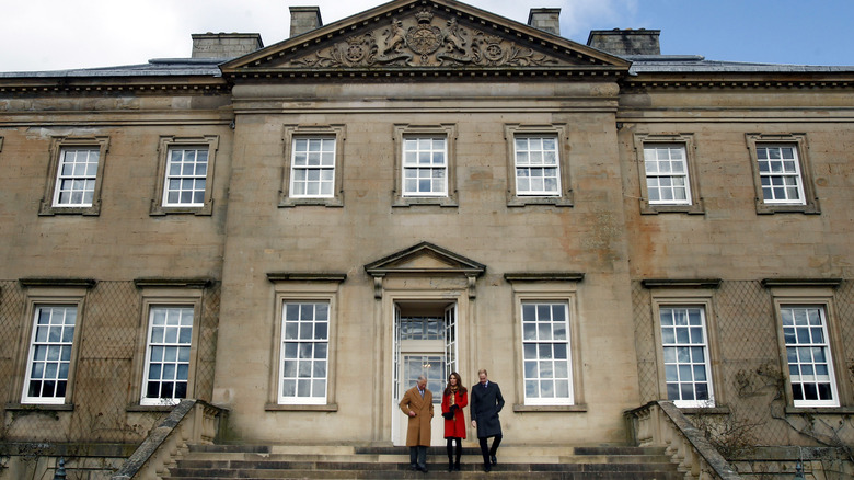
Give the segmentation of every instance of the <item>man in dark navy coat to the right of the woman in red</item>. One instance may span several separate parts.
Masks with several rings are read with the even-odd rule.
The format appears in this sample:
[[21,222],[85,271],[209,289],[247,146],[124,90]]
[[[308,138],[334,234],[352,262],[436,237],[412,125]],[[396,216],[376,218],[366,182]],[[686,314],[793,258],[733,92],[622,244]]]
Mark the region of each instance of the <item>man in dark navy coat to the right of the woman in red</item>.
[[[495,454],[498,445],[501,444],[501,422],[498,420],[498,412],[504,408],[504,397],[498,384],[489,381],[486,369],[477,373],[481,382],[469,390],[471,402],[469,403],[472,413],[472,426],[477,428],[477,439],[481,442],[481,454],[483,454],[484,471],[492,470],[492,466],[498,462]],[[488,448],[486,441],[495,437],[492,448]]]

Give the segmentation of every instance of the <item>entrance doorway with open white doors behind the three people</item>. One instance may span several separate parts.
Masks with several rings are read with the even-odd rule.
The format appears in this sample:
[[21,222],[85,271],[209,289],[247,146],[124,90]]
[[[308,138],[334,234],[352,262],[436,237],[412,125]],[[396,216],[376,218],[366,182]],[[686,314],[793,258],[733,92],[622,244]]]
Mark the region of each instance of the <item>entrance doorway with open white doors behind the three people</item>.
[[430,423],[430,445],[443,445],[442,391],[448,376],[458,368],[457,304],[395,302],[393,352],[395,409],[392,418],[392,439],[394,445],[406,444],[408,423],[396,407],[420,375],[427,378],[427,389],[432,392],[434,418]]

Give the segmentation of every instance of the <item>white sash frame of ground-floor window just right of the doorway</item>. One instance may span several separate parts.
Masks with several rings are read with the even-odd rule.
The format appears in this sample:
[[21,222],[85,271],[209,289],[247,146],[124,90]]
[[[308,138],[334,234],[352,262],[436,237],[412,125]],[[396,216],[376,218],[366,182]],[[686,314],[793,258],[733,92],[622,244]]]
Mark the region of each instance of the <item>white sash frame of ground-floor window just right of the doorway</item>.
[[[540,318],[540,313],[542,313],[543,309],[547,308],[550,318],[554,318],[554,313],[556,310],[555,308],[561,308],[563,310],[563,331],[564,331],[564,339],[554,339],[554,333],[556,333],[559,328],[557,322],[544,322]],[[527,313],[530,313],[533,309],[534,318],[531,319],[527,316]],[[527,405],[572,405],[574,404],[574,389],[573,389],[573,352],[572,352],[572,329],[570,329],[570,322],[572,319],[569,318],[569,304],[566,300],[522,300],[520,302],[520,312],[519,312],[520,319],[521,319],[521,339],[522,339],[522,381],[523,381],[523,391],[524,391],[524,404]],[[542,329],[542,327],[552,324],[552,329]],[[530,327],[533,327],[531,329]],[[540,338],[541,333],[544,333],[545,330],[551,330],[547,332],[547,334],[544,334],[544,338]],[[534,338],[531,338],[531,334],[534,334]],[[549,358],[542,357],[540,355],[541,350],[543,346],[552,346],[552,357]],[[529,356],[529,346],[536,350],[535,357]],[[558,350],[558,347],[564,348],[564,356],[566,362],[566,375],[558,376],[555,372],[556,362],[558,358],[555,358],[556,355],[555,352]],[[552,369],[552,377],[542,377],[540,373],[542,372],[543,367],[549,367],[549,364],[551,361],[551,369]],[[535,364],[534,364],[535,363]],[[535,368],[538,374],[535,376],[530,376],[529,374],[532,372],[532,368]],[[542,393],[542,388],[539,388],[538,390],[538,397],[529,396],[528,387],[529,382],[540,382],[542,386],[543,381],[553,381],[553,397],[540,397],[539,395]],[[557,392],[557,381],[566,381],[566,395],[565,396],[558,396]]]

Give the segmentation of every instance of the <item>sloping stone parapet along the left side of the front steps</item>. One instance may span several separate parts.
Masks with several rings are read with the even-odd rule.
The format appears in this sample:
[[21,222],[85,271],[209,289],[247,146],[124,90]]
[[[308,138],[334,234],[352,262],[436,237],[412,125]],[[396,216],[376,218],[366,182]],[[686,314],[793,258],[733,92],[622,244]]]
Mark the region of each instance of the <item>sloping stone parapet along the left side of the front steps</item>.
[[160,478],[174,457],[187,448],[187,443],[214,443],[219,433],[219,420],[227,412],[201,400],[182,400],[125,460],[112,480]]

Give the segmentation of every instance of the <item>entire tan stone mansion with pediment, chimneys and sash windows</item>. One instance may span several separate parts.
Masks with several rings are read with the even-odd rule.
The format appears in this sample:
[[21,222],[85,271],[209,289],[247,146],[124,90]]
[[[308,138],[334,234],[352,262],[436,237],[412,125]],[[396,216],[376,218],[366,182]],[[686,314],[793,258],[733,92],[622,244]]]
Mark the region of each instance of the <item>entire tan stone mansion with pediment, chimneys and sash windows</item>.
[[557,14],[292,8],[269,46],[0,73],[0,478],[117,466],[182,399],[231,442],[402,445],[414,378],[480,368],[510,445],[672,401],[851,452],[854,67]]

